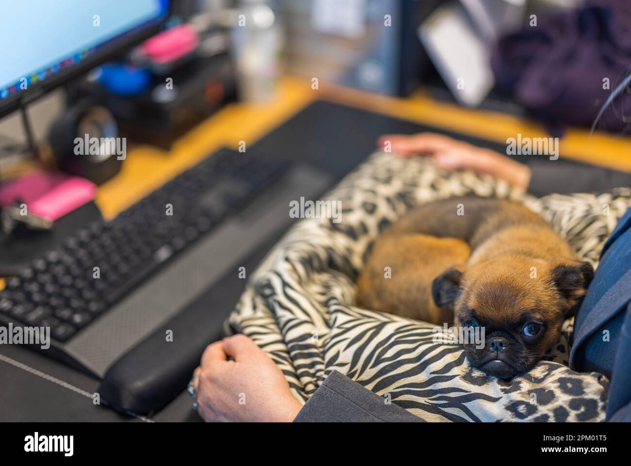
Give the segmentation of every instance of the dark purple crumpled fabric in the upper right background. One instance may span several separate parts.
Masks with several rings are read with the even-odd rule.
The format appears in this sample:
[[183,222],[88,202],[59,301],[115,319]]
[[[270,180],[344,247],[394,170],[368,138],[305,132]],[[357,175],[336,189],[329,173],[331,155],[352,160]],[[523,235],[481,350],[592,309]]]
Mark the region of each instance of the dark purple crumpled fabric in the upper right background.
[[[511,33],[492,56],[498,89],[503,90],[554,136],[565,124],[591,126],[616,84],[631,71],[629,0],[588,2],[581,9]],[[603,78],[610,88],[603,89]],[[598,129],[631,129],[631,93],[624,91],[604,112]]]

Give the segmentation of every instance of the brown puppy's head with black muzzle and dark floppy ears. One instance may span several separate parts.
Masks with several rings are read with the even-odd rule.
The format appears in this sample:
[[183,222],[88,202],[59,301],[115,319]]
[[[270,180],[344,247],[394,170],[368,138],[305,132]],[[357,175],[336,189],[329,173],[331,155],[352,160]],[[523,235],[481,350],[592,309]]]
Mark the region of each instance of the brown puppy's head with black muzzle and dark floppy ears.
[[558,341],[563,319],[587,291],[589,262],[526,257],[448,269],[432,284],[456,325],[484,329],[484,347],[464,344],[469,362],[502,379],[529,370]]

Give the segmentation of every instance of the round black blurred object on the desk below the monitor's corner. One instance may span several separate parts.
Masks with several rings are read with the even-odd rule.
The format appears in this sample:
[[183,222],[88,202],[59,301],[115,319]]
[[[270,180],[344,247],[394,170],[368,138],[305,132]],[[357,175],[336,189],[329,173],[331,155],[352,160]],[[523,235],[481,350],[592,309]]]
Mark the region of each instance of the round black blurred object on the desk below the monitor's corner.
[[114,115],[90,98],[80,100],[51,125],[49,144],[57,167],[101,184],[121,170],[126,139]]

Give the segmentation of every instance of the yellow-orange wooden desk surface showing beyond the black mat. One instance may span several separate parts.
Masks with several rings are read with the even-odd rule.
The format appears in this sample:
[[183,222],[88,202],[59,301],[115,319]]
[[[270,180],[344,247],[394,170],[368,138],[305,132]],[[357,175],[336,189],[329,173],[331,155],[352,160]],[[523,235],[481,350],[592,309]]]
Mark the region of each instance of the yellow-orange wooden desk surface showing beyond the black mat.
[[[523,137],[548,137],[541,125],[530,120],[436,102],[422,91],[401,99],[323,83],[318,90],[312,90],[310,81],[286,77],[281,80],[277,98],[273,101],[227,105],[180,138],[171,151],[146,145],[133,148],[121,173],[98,190],[98,207],[103,215],[112,218],[206,154],[221,146],[236,149],[239,141],[245,141],[247,148],[319,98],[497,143],[505,143],[507,137],[516,137],[517,133]],[[631,172],[630,137],[601,132],[590,136],[587,129],[570,129],[560,140],[560,153],[562,158]]]

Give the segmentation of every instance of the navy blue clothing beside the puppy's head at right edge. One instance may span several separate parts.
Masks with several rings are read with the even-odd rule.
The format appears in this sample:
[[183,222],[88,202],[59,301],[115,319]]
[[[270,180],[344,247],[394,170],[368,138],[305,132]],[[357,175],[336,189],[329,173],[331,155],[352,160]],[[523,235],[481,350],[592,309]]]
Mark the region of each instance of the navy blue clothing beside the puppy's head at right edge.
[[570,367],[611,380],[607,419],[631,418],[631,209],[607,240],[576,313]]

